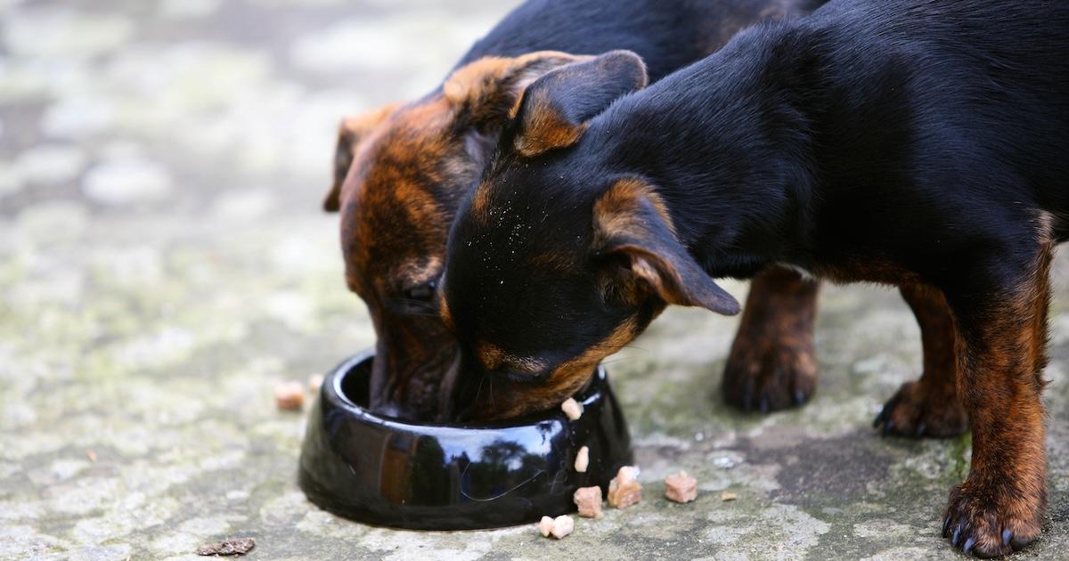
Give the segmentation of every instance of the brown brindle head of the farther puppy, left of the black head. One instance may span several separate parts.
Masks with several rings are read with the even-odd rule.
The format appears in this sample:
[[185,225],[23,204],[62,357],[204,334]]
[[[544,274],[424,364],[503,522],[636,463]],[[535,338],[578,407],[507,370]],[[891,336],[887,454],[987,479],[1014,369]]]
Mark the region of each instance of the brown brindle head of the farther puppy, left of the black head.
[[456,345],[438,320],[435,287],[449,224],[523,89],[583,59],[555,51],[481,59],[439,92],[342,121],[323,206],[341,213],[345,280],[378,338],[372,408],[448,412]]

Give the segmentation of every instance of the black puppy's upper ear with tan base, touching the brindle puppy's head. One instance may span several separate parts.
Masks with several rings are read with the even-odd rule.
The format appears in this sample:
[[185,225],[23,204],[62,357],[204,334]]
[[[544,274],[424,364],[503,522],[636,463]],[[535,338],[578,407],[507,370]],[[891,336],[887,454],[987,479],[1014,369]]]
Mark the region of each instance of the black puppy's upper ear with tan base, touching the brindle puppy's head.
[[629,50],[613,50],[557,68],[534,80],[520,102],[513,145],[523,156],[569,146],[587,121],[635,90],[646,88],[646,64]]

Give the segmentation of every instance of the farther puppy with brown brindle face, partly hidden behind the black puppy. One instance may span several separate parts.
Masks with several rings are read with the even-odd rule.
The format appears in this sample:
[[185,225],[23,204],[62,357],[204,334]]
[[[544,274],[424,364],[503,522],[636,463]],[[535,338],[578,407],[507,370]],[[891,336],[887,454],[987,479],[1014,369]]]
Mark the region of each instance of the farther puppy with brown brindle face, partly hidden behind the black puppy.
[[655,80],[713,52],[745,26],[799,16],[820,3],[528,0],[476,43],[435,91],[344,120],[324,207],[341,212],[345,280],[368,305],[378,337],[372,408],[448,416],[458,350],[438,320],[434,290],[446,237],[527,84],[618,48],[641,54]]

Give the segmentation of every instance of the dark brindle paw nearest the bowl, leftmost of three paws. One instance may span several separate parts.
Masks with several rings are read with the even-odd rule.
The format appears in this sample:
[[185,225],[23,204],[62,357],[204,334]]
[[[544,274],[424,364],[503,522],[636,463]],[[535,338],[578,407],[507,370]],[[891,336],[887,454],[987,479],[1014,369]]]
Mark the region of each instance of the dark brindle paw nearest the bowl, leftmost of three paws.
[[808,345],[735,341],[724,369],[724,401],[744,411],[770,412],[802,405],[817,389],[817,362]]

